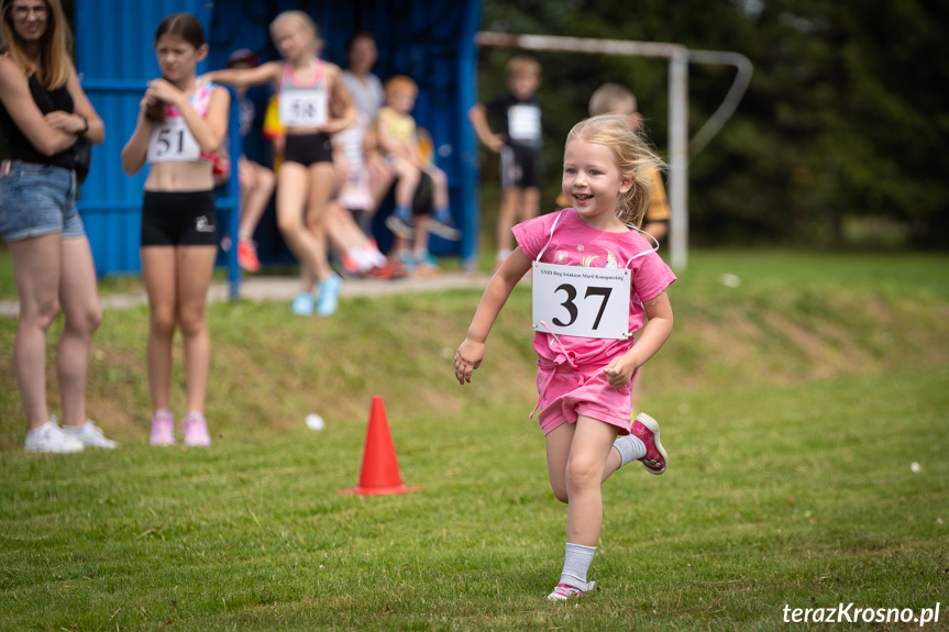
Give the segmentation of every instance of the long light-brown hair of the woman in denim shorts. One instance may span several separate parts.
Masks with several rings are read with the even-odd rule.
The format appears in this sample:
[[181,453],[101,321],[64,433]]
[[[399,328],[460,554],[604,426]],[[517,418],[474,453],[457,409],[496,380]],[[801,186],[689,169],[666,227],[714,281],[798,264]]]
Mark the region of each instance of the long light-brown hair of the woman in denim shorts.
[[46,32],[40,42],[40,64],[36,64],[23,47],[23,41],[13,27],[13,0],[2,0],[0,8],[0,46],[7,49],[10,59],[23,70],[29,79],[42,70],[41,84],[47,90],[56,90],[69,80],[71,64],[69,51],[73,34],[63,4],[59,0],[44,0],[46,3]]

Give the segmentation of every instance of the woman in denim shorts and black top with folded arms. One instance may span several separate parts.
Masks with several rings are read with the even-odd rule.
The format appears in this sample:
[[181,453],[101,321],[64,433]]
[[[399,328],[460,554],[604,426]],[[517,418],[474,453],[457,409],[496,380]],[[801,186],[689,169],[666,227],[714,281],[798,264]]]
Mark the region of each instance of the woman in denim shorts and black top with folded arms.
[[[96,269],[76,211],[73,145],[102,142],[106,129],[66,47],[59,0],[0,0],[0,234],[20,297],[13,358],[26,410],[29,452],[78,452],[115,443],[86,419],[86,372],[102,320]],[[46,333],[62,306],[56,375],[63,428],[46,406]]]

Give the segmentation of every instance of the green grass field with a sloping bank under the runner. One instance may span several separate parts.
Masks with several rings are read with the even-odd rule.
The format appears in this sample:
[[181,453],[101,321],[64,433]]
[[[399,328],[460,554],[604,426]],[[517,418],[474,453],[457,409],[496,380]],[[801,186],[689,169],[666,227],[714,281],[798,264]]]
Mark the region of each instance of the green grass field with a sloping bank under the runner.
[[[209,450],[146,445],[137,308],[106,314],[90,372],[90,412],[120,450],[24,454],[15,321],[0,319],[0,629],[919,629],[784,620],[851,602],[940,603],[924,629],[947,629],[947,264],[693,254],[641,382],[670,469],[607,481],[600,589],[569,603],[543,599],[565,508],[527,419],[528,288],[464,388],[451,355],[476,291],[352,299],[329,320],[212,306]],[[422,490],[340,495],[376,393]]]

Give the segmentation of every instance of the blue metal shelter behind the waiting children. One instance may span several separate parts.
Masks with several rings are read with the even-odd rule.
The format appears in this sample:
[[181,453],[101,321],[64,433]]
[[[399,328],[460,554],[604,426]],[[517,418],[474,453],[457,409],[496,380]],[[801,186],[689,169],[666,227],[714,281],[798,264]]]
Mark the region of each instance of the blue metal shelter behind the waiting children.
[[[474,36],[481,26],[481,0],[76,0],[77,68],[107,131],[106,142],[93,148],[92,168],[79,196],[100,277],[141,271],[139,231],[146,169],[129,177],[122,171],[120,152],[134,129],[145,82],[158,75],[152,49],[158,23],[179,11],[201,20],[210,45],[208,59],[198,69],[202,73],[222,68],[228,55],[238,48],[250,48],[264,62],[278,58],[268,25],[278,13],[290,9],[306,11],[319,24],[322,58],[345,67],[350,36],[371,31],[379,47],[375,73],[383,79],[408,75],[418,82],[413,115],[434,141],[438,164],[449,176],[452,213],[464,233],[459,243],[433,237],[432,250],[460,255],[464,260],[474,257],[477,138],[466,114],[477,96]],[[267,95],[262,88],[255,96],[262,119]],[[236,104],[232,106],[230,146],[232,155],[238,155]],[[267,159],[267,148],[257,138],[244,149],[252,158]],[[236,208],[238,182],[232,177],[219,192],[222,233],[236,234]],[[265,264],[294,260],[273,219],[262,222],[257,240]],[[235,295],[240,282],[235,248],[222,254],[220,263],[229,269]]]

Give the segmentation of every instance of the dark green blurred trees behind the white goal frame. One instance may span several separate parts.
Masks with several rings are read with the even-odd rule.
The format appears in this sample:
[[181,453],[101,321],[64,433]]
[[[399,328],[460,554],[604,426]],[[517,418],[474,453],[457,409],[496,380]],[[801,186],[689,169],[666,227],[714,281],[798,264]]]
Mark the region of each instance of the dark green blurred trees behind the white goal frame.
[[[949,3],[923,0],[484,0],[484,31],[672,42],[735,51],[754,75],[735,115],[689,164],[695,244],[949,246]],[[479,97],[516,52],[479,55]],[[543,200],[589,95],[639,99],[667,157],[664,59],[529,53],[543,66]],[[689,64],[689,135],[736,70]],[[483,152],[483,173],[496,171]]]

